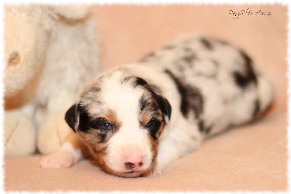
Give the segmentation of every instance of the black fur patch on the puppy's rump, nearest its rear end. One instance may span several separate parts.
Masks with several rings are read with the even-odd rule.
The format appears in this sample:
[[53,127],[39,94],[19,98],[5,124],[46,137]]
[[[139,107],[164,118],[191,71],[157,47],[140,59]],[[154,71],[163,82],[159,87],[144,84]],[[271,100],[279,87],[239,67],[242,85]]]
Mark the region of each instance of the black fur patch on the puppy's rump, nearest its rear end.
[[252,67],[253,61],[243,51],[240,51],[240,53],[244,59],[245,72],[244,74],[237,71],[233,72],[235,83],[241,88],[246,88],[250,83],[255,83],[257,86],[257,77]]

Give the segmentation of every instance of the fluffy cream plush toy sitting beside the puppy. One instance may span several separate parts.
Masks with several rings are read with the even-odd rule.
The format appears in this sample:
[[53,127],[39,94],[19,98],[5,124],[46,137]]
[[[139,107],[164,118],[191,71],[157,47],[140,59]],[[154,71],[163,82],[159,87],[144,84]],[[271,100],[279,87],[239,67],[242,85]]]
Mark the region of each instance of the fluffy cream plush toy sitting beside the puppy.
[[99,31],[87,5],[5,5],[5,156],[50,154],[71,129],[65,111],[99,72]]

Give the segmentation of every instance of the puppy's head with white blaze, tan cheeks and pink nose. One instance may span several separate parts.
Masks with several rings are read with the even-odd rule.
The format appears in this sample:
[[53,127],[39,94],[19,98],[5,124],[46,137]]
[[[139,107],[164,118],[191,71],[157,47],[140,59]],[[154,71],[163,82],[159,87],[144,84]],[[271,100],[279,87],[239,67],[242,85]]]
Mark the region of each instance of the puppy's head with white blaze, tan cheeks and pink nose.
[[157,145],[171,106],[145,80],[122,71],[91,85],[66,113],[105,172],[147,176],[155,169]]

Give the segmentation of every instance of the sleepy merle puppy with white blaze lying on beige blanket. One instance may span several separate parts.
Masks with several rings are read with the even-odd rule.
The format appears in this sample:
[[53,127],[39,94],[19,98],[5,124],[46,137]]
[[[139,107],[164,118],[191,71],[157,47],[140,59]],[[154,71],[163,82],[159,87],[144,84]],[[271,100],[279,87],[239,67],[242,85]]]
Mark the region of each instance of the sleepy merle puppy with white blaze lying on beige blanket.
[[244,51],[213,38],[180,38],[88,83],[65,114],[76,135],[42,160],[68,167],[86,145],[105,172],[161,174],[203,138],[260,117],[272,87]]

